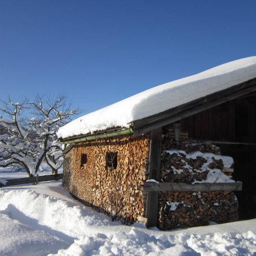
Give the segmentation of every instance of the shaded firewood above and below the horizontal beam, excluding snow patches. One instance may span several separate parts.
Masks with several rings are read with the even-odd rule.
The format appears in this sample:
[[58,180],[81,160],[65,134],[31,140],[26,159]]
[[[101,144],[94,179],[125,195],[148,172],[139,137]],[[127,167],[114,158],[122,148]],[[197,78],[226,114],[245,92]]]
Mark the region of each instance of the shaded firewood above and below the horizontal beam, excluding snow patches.
[[[177,145],[174,139],[163,136],[160,176],[162,182],[191,184],[196,180],[205,180],[208,174],[207,171],[198,171],[205,163],[202,157],[187,159],[185,154],[170,154],[165,151],[170,149],[184,150],[186,154],[196,151],[221,154],[220,148],[211,143],[180,141]],[[213,158],[209,168],[223,170],[223,162],[221,159]],[[231,175],[231,173],[225,174]],[[160,192],[158,211],[158,227],[168,230],[208,225],[210,221],[223,223],[237,220],[238,204],[232,191]]]

